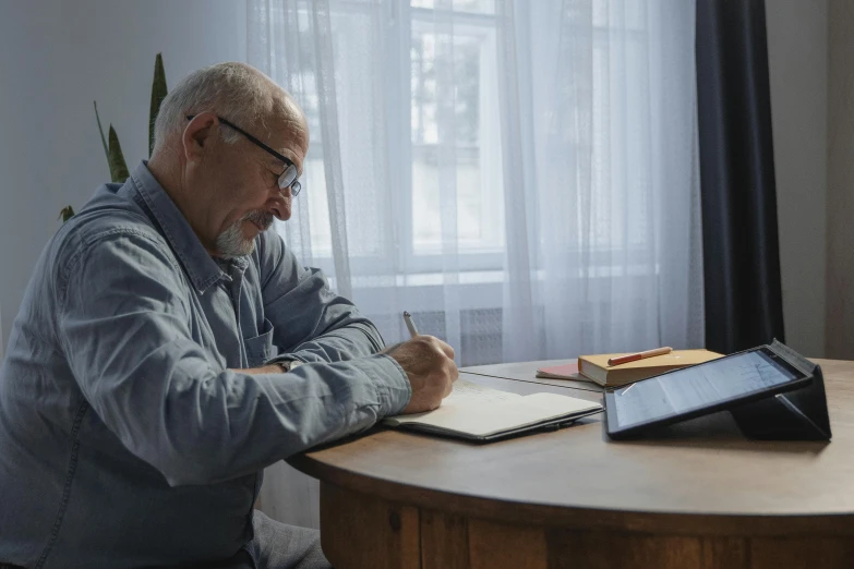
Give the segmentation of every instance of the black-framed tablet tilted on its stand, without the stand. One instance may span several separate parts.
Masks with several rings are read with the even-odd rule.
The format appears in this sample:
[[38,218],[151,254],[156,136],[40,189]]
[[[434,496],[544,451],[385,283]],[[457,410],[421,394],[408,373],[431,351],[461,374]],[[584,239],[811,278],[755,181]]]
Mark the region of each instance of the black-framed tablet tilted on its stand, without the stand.
[[606,391],[609,436],[624,438],[809,384],[805,373],[767,346],[674,370]]

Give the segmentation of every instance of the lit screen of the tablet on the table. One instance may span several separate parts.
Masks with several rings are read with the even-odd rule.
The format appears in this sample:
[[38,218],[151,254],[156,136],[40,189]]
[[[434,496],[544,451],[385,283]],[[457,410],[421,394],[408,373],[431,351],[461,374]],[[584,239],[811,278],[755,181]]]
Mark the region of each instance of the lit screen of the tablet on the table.
[[623,429],[808,377],[765,348],[650,377],[609,394]]

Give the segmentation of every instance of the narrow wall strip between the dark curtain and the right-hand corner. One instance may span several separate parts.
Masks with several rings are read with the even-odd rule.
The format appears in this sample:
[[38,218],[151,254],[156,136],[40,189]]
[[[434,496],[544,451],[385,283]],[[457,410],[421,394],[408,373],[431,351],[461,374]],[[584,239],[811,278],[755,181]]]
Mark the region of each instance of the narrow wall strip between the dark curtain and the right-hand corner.
[[825,350],[828,0],[767,0],[786,343]]

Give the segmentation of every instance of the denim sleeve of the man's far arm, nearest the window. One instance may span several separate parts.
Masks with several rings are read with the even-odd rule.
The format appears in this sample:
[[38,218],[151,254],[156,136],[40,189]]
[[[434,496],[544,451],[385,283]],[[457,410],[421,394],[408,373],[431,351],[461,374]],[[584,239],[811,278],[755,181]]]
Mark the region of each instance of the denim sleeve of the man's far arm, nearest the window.
[[329,290],[320,269],[303,268],[275,233],[258,240],[264,316],[273,324],[277,360],[338,362],[384,348],[376,327]]

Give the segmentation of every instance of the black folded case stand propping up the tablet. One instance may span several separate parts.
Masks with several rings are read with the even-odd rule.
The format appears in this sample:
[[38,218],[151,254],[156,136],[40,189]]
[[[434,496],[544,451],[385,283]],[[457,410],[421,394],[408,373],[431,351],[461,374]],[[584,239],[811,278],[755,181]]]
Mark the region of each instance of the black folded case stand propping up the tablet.
[[830,419],[821,367],[777,340],[769,348],[811,374],[813,380],[801,389],[731,409],[742,433],[763,440],[829,440]]

